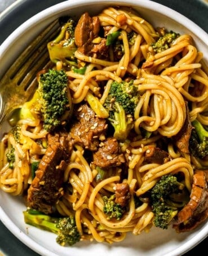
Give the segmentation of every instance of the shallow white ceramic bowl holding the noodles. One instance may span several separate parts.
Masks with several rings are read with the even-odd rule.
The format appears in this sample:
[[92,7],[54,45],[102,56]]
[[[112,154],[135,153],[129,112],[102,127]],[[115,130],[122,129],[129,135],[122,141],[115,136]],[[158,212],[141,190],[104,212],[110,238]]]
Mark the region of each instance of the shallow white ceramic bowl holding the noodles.
[[[33,16],[3,42],[0,46],[0,77],[21,50],[24,49],[25,45],[52,20],[63,15],[79,18],[85,11],[90,14],[98,14],[104,7],[113,4],[132,6],[138,10],[140,16],[147,19],[155,27],[166,27],[179,33],[189,33],[196,42],[197,48],[204,53],[205,61],[208,63],[208,35],[191,20],[170,8],[148,0],[70,0],[52,6]],[[1,191],[0,206],[0,219],[6,227],[30,249],[47,256],[182,255],[208,235],[208,223],[205,222],[195,231],[189,233],[177,234],[171,228],[167,231],[152,228],[148,234],[142,233],[139,236],[129,234],[126,240],[120,244],[81,242],[72,248],[64,248],[56,244],[55,234],[29,227],[24,223],[22,212],[25,210],[25,206],[21,197],[11,197]]]

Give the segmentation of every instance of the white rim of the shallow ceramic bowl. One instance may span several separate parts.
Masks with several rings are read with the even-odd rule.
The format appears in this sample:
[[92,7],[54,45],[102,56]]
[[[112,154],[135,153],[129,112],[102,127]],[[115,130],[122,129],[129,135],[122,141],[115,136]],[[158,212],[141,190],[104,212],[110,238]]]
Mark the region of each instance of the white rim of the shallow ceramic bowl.
[[[10,11],[14,6],[18,5],[18,3],[24,2],[24,0],[17,0],[14,2],[10,7],[7,7],[5,11],[2,12],[1,16],[5,15],[6,11]],[[54,15],[59,15],[64,8],[74,8],[79,7],[81,5],[95,5],[98,3],[98,0],[68,0],[64,2],[57,3],[56,5],[53,5],[51,7],[46,8],[45,10],[38,12],[36,15],[33,15],[31,18],[26,20],[23,24],[20,25],[20,27],[16,28],[14,32],[11,33],[10,36],[7,37],[5,41],[2,42],[0,45],[0,59],[2,54],[5,52],[5,50],[10,47],[12,42],[14,41],[14,38],[17,36],[23,35],[25,33],[25,27],[31,28],[36,23],[41,23],[42,20],[45,20],[45,18],[50,18]],[[184,15],[180,14],[179,12],[172,10],[171,8],[162,5],[161,3],[153,2],[152,0],[139,0],[135,3],[132,3],[132,0],[100,0],[99,4],[106,4],[106,5],[131,5],[131,6],[142,6],[144,8],[149,8],[150,10],[154,11],[157,10],[158,13],[163,14],[168,13],[169,17],[178,21],[180,20],[180,24],[187,27],[190,31],[196,31],[198,32],[197,36],[199,38],[202,38],[203,42],[208,45],[208,34],[200,28],[196,23],[192,22],[189,18],[185,17]],[[160,7],[160,8],[158,8]],[[166,11],[166,12],[164,12]],[[170,11],[170,12],[169,12]],[[167,15],[166,15],[167,16]],[[183,19],[181,19],[183,18]],[[32,238],[27,236],[24,232],[21,231],[10,219],[10,217],[6,214],[6,212],[3,210],[3,208],[0,206],[0,219],[2,223],[10,230],[12,234],[14,234],[21,242],[23,242],[26,246],[28,246],[30,249],[36,251],[37,253],[41,255],[54,255],[57,256],[57,254],[52,253],[52,251],[44,248],[42,245],[39,245],[36,241],[34,241]],[[20,238],[21,235],[21,238]],[[171,251],[171,253],[167,253],[166,256],[173,256],[173,255],[181,255],[182,253],[186,253],[190,249],[192,249],[194,246],[199,244],[203,239],[208,237],[208,223],[206,224],[205,228],[203,228],[200,232],[197,233],[197,240],[196,236],[192,237],[188,242],[186,242],[183,245],[180,245],[179,248],[174,249]],[[191,245],[191,246],[190,246]]]

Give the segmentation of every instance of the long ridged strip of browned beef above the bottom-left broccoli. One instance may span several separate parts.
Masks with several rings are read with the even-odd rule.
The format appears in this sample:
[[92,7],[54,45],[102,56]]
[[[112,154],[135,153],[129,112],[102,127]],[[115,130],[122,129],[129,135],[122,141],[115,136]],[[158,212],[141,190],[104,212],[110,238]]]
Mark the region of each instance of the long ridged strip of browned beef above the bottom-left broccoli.
[[64,170],[69,159],[67,134],[48,135],[48,147],[39,163],[36,177],[28,189],[28,206],[45,214],[53,212],[52,206],[63,191]]

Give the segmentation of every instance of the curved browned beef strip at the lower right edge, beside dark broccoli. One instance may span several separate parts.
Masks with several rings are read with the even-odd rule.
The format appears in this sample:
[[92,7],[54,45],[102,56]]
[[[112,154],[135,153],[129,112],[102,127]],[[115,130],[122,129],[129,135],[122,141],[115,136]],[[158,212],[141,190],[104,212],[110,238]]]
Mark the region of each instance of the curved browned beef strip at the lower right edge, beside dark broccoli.
[[208,187],[207,174],[196,170],[189,202],[176,216],[173,225],[176,232],[187,232],[198,227],[208,217]]

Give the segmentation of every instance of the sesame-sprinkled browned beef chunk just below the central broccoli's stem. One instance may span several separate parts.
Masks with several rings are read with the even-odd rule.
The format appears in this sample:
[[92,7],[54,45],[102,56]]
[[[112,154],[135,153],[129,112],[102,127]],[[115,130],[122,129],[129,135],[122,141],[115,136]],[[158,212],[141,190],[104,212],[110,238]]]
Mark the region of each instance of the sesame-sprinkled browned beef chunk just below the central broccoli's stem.
[[100,143],[98,151],[93,154],[93,163],[99,167],[116,167],[125,163],[125,157],[120,152],[117,139],[109,137]]

